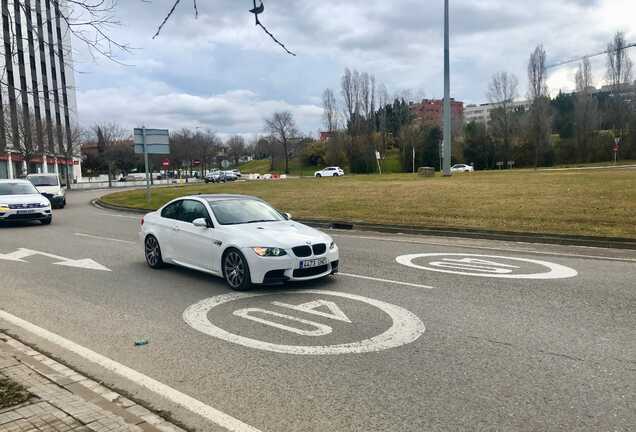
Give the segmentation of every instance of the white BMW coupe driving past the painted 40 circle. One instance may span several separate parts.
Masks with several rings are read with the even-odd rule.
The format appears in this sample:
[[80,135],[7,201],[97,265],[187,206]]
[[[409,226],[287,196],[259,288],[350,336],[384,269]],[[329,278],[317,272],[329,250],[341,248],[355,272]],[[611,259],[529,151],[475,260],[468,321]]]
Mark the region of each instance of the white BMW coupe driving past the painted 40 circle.
[[140,238],[150,267],[203,271],[239,291],[338,272],[330,236],[250,196],[178,198],[141,219]]

